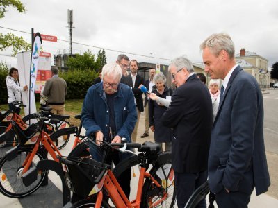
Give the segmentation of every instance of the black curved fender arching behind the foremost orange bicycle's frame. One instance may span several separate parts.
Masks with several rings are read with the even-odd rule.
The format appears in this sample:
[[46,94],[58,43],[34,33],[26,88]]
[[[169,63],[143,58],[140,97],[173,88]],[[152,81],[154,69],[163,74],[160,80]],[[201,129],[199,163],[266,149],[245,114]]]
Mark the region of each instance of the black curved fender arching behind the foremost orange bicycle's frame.
[[113,174],[117,178],[127,168],[131,168],[132,166],[136,166],[137,164],[140,164],[140,157],[138,157],[138,155],[131,155],[131,157],[123,159],[119,164],[117,164],[117,166],[115,166],[115,168],[113,169]]

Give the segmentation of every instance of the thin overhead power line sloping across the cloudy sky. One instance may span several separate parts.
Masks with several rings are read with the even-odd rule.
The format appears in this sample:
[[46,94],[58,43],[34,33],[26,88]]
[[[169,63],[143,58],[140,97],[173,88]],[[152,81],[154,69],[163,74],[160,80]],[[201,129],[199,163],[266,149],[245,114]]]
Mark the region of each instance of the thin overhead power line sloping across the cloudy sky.
[[[19,30],[15,30],[15,29],[12,29],[12,28],[6,28],[6,27],[3,27],[3,26],[0,26],[0,28],[4,28],[4,29],[10,30],[10,31],[17,31],[17,32],[20,32],[20,33],[31,34],[31,33],[28,33],[28,32],[26,32],[26,31],[19,31]],[[57,40],[60,40],[60,41],[62,41],[62,42],[70,42],[70,41],[68,41],[68,40],[62,40],[62,39],[59,39],[59,38],[57,38]],[[78,44],[78,45],[81,45],[81,46],[93,47],[93,48],[96,48],[96,49],[104,49],[104,50],[106,50],[106,51],[113,51],[113,52],[117,52],[117,53],[125,53],[125,54],[129,54],[129,55],[138,55],[138,56],[146,57],[146,58],[156,58],[156,59],[159,59],[159,60],[172,60],[172,59],[169,59],[169,58],[160,58],[160,57],[155,57],[155,56],[142,55],[142,54],[138,54],[138,53],[131,53],[131,52],[126,52],[126,51],[119,51],[119,50],[108,49],[108,48],[104,48],[104,47],[100,47],[100,46],[93,46],[93,45],[89,45],[89,44],[82,44],[82,43],[79,43],[79,42],[72,42],[72,43]]]

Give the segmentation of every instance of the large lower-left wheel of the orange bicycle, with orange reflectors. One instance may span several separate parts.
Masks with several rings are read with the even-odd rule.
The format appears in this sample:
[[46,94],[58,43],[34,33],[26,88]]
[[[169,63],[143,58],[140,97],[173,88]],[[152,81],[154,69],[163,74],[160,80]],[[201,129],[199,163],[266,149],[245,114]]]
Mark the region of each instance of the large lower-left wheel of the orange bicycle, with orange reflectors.
[[[38,173],[38,179],[30,186],[26,187],[22,181],[21,173],[22,162],[26,155],[32,152],[32,148],[19,148],[18,155],[15,159],[8,161],[7,156],[4,156],[0,161],[0,192],[10,198],[22,198],[36,191],[42,184],[46,171]],[[32,166],[35,166],[40,160],[47,159],[41,151],[35,153]]]

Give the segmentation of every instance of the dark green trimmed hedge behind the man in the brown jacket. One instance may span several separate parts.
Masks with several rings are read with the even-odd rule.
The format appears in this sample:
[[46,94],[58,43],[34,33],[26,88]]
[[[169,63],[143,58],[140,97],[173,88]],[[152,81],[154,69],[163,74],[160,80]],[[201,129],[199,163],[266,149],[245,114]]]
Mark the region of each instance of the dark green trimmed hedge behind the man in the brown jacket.
[[[6,86],[6,76],[8,71],[0,69],[0,104],[7,103],[8,92]],[[59,76],[67,82],[66,99],[83,99],[88,88],[94,83],[94,79],[98,76],[95,71],[71,70],[60,73]],[[39,94],[35,94],[38,101]]]

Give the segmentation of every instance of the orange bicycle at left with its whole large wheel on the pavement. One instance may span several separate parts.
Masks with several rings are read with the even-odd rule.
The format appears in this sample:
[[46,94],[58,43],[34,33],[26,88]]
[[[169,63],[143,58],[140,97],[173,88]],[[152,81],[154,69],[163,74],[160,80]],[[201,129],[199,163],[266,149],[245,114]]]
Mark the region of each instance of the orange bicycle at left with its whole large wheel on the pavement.
[[[38,171],[36,173],[37,180],[28,187],[24,185],[22,175],[40,160],[47,159],[47,153],[58,162],[57,155],[61,156],[61,154],[53,140],[77,132],[76,127],[70,127],[57,130],[49,136],[45,132],[47,123],[43,120],[48,121],[49,118],[40,118],[38,123],[31,124],[25,130],[17,122],[11,121],[19,144],[8,150],[0,160],[0,192],[3,195],[10,198],[21,198],[37,190],[44,178],[47,177],[47,171]],[[54,123],[60,122],[57,119],[51,120]]]

